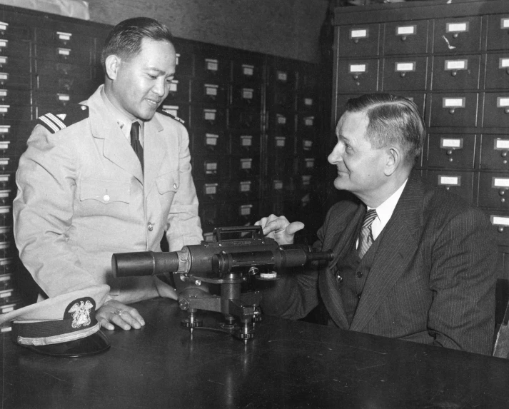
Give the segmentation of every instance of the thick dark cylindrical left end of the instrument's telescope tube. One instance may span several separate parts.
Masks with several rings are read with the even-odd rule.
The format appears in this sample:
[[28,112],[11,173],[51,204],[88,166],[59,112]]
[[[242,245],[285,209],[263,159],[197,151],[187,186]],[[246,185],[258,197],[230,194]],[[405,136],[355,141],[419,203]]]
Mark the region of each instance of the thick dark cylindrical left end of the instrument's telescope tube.
[[116,277],[152,276],[156,273],[178,271],[178,253],[116,253],[111,256],[111,270]]

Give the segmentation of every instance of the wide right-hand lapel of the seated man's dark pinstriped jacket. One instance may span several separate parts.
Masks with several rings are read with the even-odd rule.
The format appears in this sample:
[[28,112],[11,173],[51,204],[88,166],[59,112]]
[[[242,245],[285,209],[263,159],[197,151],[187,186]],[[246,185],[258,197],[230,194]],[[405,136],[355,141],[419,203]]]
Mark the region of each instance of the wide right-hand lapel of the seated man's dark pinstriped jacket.
[[408,268],[408,255],[415,254],[422,226],[422,186],[409,178],[393,216],[383,229],[371,271],[350,329],[361,331]]

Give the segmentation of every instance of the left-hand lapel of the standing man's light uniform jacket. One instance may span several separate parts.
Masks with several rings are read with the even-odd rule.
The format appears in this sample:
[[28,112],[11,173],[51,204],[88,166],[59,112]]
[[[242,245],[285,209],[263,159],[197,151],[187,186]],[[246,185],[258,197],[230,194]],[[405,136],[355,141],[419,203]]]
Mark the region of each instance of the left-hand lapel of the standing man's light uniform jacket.
[[92,136],[104,139],[103,155],[105,158],[131,173],[143,183],[140,161],[118,124],[111,120],[108,108],[102,101],[101,88],[99,87],[88,101]]

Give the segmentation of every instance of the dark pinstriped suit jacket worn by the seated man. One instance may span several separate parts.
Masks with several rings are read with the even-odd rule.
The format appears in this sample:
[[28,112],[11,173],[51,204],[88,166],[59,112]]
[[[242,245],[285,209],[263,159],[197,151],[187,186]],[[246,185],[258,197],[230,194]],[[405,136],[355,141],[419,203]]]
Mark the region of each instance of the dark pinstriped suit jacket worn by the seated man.
[[318,247],[333,249],[333,261],[286,276],[266,291],[264,312],[303,318],[321,299],[339,328],[490,354],[497,253],[484,213],[412,173],[348,325],[333,270],[365,213],[360,201],[336,203],[318,231]]

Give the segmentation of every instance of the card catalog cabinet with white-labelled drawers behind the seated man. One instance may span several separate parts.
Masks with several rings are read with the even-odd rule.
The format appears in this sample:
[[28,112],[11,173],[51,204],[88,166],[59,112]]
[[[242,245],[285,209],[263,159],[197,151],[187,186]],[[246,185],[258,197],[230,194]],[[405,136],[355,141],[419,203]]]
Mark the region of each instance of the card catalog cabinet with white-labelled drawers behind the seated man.
[[352,96],[412,99],[428,126],[418,169],[485,211],[509,278],[509,2],[338,8],[335,26],[334,122]]

